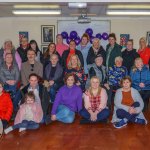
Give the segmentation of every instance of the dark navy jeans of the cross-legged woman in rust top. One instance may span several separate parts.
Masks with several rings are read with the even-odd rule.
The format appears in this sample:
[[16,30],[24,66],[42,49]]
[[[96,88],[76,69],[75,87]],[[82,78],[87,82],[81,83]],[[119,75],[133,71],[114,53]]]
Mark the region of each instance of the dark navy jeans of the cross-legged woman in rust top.
[[[132,107],[134,107],[134,108],[139,107],[139,106],[140,106],[139,102],[134,102],[133,105],[132,105]],[[134,123],[138,114],[130,114],[129,112],[127,112],[123,109],[117,109],[116,115],[119,119],[126,118],[128,120],[128,122],[133,122]]]

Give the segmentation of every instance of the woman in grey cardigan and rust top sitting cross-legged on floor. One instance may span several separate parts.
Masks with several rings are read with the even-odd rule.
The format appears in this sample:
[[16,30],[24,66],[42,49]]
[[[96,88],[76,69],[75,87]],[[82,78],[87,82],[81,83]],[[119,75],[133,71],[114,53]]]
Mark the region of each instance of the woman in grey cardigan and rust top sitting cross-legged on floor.
[[127,123],[147,124],[142,113],[143,100],[139,92],[131,87],[131,78],[126,76],[121,80],[122,88],[118,89],[114,100],[112,123],[115,128],[122,128]]

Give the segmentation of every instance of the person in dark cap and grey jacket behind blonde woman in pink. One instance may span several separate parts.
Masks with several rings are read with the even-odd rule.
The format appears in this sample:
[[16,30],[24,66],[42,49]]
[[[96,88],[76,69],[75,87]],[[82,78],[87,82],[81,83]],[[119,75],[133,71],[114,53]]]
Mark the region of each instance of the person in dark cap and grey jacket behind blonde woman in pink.
[[[103,57],[101,54],[98,54],[95,58],[95,63],[88,65],[89,75],[86,82],[86,88],[89,87],[90,79],[93,76],[97,76],[100,80],[101,86],[106,85],[107,77],[106,77],[106,67],[103,65]],[[106,85],[107,87],[108,85]]]

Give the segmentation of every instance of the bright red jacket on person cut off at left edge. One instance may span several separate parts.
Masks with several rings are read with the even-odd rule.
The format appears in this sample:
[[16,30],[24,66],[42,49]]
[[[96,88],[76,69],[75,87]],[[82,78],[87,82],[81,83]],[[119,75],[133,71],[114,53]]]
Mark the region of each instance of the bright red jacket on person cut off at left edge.
[[0,119],[9,121],[13,112],[13,104],[8,93],[0,95]]

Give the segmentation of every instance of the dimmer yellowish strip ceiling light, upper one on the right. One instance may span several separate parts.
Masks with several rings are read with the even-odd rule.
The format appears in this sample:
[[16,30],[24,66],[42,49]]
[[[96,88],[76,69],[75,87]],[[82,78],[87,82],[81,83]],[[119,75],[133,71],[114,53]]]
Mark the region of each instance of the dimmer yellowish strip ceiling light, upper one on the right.
[[108,9],[150,9],[150,5],[108,5]]

